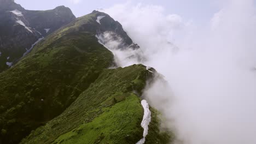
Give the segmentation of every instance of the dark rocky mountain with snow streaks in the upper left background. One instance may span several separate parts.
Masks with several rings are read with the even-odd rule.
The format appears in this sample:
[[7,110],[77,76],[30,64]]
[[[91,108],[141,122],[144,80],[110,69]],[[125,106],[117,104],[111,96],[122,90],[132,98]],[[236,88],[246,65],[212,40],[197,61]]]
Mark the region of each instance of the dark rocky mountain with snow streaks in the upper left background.
[[64,6],[53,10],[25,10],[11,0],[0,0],[0,72],[11,67],[45,35],[73,21]]

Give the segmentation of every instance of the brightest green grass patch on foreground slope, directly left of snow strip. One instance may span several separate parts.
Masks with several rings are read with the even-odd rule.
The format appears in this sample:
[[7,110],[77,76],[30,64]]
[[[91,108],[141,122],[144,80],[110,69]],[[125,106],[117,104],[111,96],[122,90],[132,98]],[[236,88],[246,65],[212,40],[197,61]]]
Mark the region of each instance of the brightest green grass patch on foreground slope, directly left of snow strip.
[[53,143],[134,143],[141,139],[138,128],[143,109],[140,100],[131,94],[125,100],[104,109],[92,122],[60,136]]

